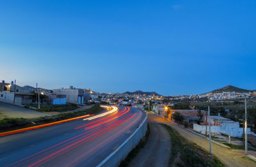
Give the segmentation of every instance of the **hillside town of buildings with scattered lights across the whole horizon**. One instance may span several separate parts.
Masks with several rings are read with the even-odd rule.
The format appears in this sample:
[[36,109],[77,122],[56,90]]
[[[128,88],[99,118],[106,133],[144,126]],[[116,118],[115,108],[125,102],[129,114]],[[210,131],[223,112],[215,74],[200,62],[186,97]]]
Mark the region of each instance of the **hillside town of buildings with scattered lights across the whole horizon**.
[[[172,120],[173,115],[178,112],[182,117],[184,117],[183,122],[187,122],[188,126],[194,128],[195,131],[200,133],[206,133],[205,127],[203,126],[207,126],[207,122],[205,122],[205,120],[207,120],[207,117],[209,116],[207,116],[206,110],[202,110],[202,118],[199,118],[199,106],[191,106],[188,102],[227,102],[244,98],[252,99],[253,101],[255,100],[255,97],[256,92],[208,92],[205,94],[190,96],[161,96],[156,92],[136,91],[124,93],[102,93],[73,86],[70,86],[69,88],[49,90],[31,86],[21,87],[13,81],[6,83],[3,80],[0,83],[0,101],[5,103],[14,103],[15,105],[20,106],[37,104],[38,101],[41,105],[66,105],[67,103],[74,103],[77,105],[90,105],[95,103],[102,105],[124,105],[141,108],[143,110],[151,110],[152,112],[162,115],[163,117],[166,117],[166,119],[170,120]],[[184,105],[184,101],[187,105]],[[180,104],[183,104],[183,106]],[[164,108],[165,106],[170,107],[170,111],[168,113]],[[248,106],[254,108],[252,105]],[[225,112],[224,116],[230,115],[229,109],[225,108]],[[216,115],[210,116],[211,124],[212,126],[218,126],[215,128],[215,131],[212,131],[212,133],[230,134],[233,137],[242,136],[243,128],[239,122],[221,117],[223,113],[218,111],[212,114]],[[222,129],[220,129],[220,127]],[[230,131],[230,128],[232,131]],[[254,126],[253,129],[255,129]],[[251,133],[250,129],[248,130],[248,133]]]

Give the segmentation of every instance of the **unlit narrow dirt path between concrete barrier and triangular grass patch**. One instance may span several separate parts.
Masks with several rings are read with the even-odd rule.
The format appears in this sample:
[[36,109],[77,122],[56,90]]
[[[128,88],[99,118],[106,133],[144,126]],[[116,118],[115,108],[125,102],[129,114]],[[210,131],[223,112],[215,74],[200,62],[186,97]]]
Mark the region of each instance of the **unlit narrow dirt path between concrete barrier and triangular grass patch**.
[[150,134],[148,142],[132,160],[129,166],[168,166],[171,155],[171,138],[166,129],[148,115]]

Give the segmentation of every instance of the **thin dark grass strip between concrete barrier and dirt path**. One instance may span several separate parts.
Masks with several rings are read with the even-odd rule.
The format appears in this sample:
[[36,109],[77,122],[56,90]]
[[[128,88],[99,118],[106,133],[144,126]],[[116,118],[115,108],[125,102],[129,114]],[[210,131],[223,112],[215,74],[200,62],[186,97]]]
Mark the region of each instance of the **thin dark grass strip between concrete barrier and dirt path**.
[[140,152],[140,149],[144,148],[146,143],[148,142],[148,137],[150,134],[150,128],[147,124],[147,132],[143,138],[141,138],[140,142],[134,149],[129,152],[128,156],[120,163],[119,167],[129,166],[129,163],[131,163],[132,159],[137,156],[137,154]]

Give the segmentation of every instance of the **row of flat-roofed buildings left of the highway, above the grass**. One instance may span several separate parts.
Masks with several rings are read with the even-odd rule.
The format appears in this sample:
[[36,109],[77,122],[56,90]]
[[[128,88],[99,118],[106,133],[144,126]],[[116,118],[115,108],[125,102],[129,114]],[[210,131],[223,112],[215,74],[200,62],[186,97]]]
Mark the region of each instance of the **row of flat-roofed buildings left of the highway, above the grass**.
[[42,89],[31,86],[20,87],[15,83],[0,83],[0,101],[5,103],[15,103],[16,105],[36,104],[38,95],[40,103],[50,105],[65,105],[75,103],[83,105],[90,101],[90,90],[77,89],[70,86],[68,89]]

